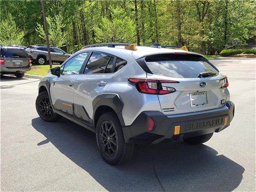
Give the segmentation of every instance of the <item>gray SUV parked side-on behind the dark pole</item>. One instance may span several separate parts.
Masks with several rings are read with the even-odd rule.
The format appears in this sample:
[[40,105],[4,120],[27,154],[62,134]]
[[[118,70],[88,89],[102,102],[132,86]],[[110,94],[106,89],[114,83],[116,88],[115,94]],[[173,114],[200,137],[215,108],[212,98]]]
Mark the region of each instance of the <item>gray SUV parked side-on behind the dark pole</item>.
[[[39,65],[44,65],[48,62],[48,50],[47,46],[44,45],[36,45],[36,46],[28,46],[26,48],[26,52],[28,53],[30,59],[33,62],[36,62]],[[50,46],[51,59],[52,62],[62,64],[71,54],[68,54],[61,50],[60,48]]]

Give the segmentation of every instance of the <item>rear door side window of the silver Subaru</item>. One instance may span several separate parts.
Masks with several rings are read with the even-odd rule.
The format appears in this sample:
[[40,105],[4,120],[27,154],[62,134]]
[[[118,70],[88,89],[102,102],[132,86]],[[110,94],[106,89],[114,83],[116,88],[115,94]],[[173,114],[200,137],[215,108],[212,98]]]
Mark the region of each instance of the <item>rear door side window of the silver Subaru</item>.
[[106,66],[110,64],[110,68],[107,68],[106,71],[111,71],[111,65],[113,65],[113,59],[111,56],[103,53],[93,52],[84,71],[85,74],[95,74],[95,73],[104,73]]

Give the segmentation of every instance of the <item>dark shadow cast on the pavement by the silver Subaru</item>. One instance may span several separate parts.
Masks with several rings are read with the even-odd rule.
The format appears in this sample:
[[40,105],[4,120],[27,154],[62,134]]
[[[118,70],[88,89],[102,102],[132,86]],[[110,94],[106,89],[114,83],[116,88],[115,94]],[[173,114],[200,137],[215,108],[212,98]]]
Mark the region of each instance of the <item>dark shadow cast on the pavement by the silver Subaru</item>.
[[232,191],[244,172],[213,148],[185,142],[139,145],[129,162],[110,166],[98,153],[95,134],[81,126],[65,118],[48,123],[39,117],[32,126],[47,138],[38,146],[51,142],[108,191]]

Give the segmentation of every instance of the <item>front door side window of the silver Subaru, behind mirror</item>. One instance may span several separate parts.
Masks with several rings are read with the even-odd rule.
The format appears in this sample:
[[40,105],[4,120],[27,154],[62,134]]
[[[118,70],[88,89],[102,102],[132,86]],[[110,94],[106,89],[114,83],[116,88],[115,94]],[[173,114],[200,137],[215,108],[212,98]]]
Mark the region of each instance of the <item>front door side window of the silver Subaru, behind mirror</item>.
[[60,73],[62,75],[72,75],[79,74],[82,65],[84,64],[84,60],[86,59],[88,52],[78,54],[70,59],[64,66],[60,68]]

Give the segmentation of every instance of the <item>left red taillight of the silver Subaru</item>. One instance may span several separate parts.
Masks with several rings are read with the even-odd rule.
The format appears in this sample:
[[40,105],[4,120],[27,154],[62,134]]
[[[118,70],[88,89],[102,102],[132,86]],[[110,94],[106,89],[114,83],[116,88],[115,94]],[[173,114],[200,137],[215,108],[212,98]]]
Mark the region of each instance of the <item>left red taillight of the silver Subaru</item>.
[[134,85],[141,93],[163,95],[175,92],[175,88],[163,85],[165,83],[179,83],[178,81],[128,78],[128,82]]

